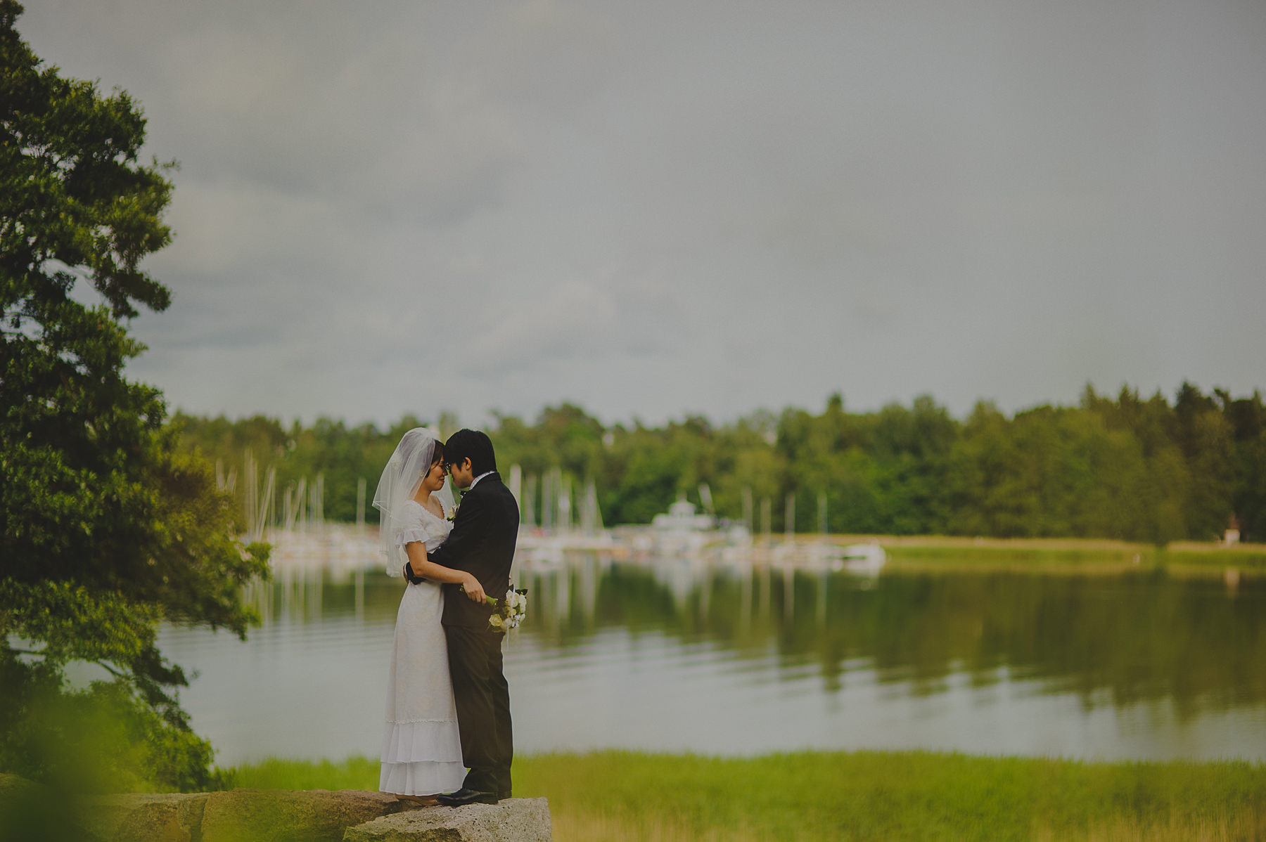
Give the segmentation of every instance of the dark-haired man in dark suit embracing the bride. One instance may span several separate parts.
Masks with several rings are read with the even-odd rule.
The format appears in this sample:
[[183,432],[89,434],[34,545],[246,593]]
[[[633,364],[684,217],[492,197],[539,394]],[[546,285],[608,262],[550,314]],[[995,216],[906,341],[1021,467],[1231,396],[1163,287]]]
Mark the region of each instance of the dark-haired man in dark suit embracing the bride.
[[[496,473],[492,441],[480,430],[458,430],[444,442],[444,463],[453,485],[465,488],[448,540],[427,558],[475,575],[499,602],[510,589],[510,563],[519,537],[519,504]],[[413,573],[408,570],[406,573]],[[444,636],[453,676],[462,760],[470,772],[462,788],[439,795],[441,804],[495,804],[510,798],[510,686],[501,674],[504,635],[487,623],[492,608],[444,585]]]

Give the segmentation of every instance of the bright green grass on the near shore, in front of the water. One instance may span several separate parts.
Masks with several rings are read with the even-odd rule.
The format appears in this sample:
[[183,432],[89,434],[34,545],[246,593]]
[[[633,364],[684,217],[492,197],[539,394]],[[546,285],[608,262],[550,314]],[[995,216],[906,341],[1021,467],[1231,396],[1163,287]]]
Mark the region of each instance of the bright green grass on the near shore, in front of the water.
[[[238,786],[375,789],[379,764],[267,760]],[[515,759],[557,842],[1266,838],[1266,766],[934,752],[753,759],[600,751]]]

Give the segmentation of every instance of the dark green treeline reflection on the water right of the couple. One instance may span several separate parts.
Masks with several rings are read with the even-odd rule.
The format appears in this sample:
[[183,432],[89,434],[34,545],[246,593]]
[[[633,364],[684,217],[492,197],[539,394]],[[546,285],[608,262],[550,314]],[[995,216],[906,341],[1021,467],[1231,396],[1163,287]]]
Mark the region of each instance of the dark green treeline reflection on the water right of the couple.
[[1266,588],[1244,578],[900,573],[880,579],[690,563],[620,565],[589,558],[524,577],[525,626],[551,646],[603,628],[711,641],[739,656],[770,646],[813,661],[828,692],[848,664],[933,694],[965,673],[984,686],[1006,666],[1086,705],[1171,698],[1184,714],[1266,700]]

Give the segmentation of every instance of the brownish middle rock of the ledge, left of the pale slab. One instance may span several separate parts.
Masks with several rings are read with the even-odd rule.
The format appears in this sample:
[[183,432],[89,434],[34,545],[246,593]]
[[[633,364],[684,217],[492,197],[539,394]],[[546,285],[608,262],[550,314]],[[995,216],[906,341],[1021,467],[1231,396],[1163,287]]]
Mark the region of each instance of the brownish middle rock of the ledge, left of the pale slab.
[[354,789],[210,793],[201,842],[339,842],[347,828],[401,808],[394,795]]

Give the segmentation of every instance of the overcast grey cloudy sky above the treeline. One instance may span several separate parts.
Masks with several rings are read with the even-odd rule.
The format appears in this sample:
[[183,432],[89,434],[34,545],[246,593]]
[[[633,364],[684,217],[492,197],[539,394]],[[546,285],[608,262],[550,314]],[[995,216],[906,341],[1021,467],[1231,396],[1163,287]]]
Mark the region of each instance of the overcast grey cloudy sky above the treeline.
[[1266,387],[1260,0],[27,0],[177,158],[191,412]]

